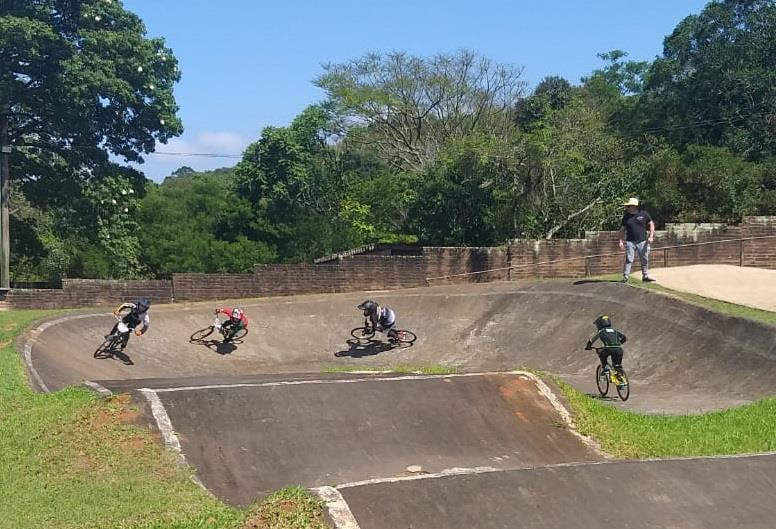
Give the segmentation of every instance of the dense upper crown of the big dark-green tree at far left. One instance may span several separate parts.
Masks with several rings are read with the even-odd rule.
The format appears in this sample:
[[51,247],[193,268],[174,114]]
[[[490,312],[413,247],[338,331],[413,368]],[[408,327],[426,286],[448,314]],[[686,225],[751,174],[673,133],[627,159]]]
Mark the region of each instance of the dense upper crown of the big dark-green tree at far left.
[[12,174],[80,177],[109,154],[142,161],[182,132],[177,61],[145,33],[120,2],[2,3],[0,108],[16,149]]

